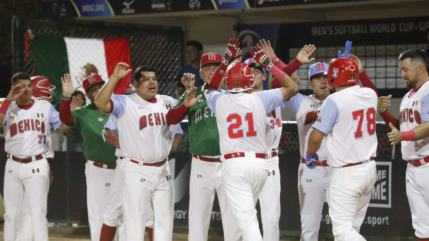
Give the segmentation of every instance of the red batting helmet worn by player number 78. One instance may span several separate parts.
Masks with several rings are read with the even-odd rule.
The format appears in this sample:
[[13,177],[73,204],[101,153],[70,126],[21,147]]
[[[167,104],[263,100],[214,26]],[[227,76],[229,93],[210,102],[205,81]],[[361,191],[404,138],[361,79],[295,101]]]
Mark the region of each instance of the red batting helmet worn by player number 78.
[[336,58],[329,63],[328,84],[331,87],[358,84],[359,70],[351,58]]

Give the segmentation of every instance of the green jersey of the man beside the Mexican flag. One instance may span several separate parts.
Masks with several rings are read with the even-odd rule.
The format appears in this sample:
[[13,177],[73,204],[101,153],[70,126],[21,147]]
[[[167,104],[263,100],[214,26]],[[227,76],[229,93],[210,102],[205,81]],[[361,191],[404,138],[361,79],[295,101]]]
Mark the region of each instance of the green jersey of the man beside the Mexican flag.
[[72,115],[72,127],[79,129],[82,135],[85,159],[116,166],[116,148],[110,142],[104,142],[102,134],[109,115],[92,103],[73,110]]

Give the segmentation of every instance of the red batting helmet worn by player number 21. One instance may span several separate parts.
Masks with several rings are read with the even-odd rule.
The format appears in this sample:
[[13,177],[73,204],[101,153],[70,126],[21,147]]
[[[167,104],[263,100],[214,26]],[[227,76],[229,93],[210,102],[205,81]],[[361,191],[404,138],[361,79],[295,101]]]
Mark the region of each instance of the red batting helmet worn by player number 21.
[[243,62],[231,64],[225,73],[227,90],[233,93],[253,89],[254,81],[252,70]]

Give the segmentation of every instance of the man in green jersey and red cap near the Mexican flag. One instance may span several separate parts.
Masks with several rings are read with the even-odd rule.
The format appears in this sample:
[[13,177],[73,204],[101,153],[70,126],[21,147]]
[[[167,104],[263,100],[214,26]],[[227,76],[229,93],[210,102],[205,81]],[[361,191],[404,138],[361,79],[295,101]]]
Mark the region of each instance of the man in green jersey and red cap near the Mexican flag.
[[[71,75],[61,78],[63,96],[60,102],[60,118],[69,127],[79,129],[84,142],[83,154],[87,186],[88,222],[91,240],[100,240],[101,226],[106,201],[109,198],[111,184],[115,175],[116,157],[115,146],[103,140],[102,131],[109,118],[108,114],[100,111],[94,105],[94,99],[104,81],[98,74],[89,75],[82,84],[85,96],[91,104],[70,110],[71,96],[78,87],[73,87]],[[77,99],[75,97],[75,99]]]

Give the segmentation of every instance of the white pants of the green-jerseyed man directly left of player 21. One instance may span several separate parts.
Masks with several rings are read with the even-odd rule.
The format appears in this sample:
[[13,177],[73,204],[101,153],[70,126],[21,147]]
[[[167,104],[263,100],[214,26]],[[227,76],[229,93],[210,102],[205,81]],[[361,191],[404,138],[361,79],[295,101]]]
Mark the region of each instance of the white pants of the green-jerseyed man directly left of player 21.
[[222,163],[192,157],[189,181],[189,241],[207,240],[215,194],[218,194],[221,208],[224,240],[241,240],[241,231],[225,194]]

